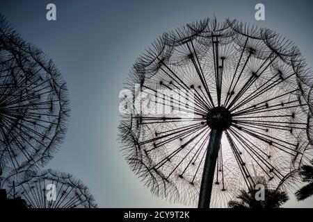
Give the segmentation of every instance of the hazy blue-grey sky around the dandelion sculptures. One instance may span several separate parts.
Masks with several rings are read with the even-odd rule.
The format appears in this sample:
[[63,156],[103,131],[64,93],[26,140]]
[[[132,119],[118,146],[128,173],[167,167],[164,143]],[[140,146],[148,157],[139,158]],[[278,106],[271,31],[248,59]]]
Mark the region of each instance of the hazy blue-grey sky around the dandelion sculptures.
[[[45,18],[55,3],[57,21]],[[264,3],[266,21],[255,20]],[[181,207],[150,194],[120,153],[118,92],[129,67],[165,31],[204,17],[236,18],[293,40],[313,65],[313,1],[17,1],[0,0],[0,13],[61,70],[70,90],[71,118],[64,144],[47,167],[72,173],[99,207]],[[285,207],[313,207],[313,198]]]

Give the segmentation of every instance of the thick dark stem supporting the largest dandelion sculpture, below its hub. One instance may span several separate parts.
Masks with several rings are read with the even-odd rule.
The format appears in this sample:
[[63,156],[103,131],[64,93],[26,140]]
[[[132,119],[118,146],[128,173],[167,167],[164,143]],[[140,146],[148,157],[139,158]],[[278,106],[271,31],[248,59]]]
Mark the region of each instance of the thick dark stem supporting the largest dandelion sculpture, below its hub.
[[222,134],[223,130],[211,129],[209,144],[207,146],[207,155],[204,161],[198,208],[210,207],[216,160],[220,149],[220,139],[222,139]]

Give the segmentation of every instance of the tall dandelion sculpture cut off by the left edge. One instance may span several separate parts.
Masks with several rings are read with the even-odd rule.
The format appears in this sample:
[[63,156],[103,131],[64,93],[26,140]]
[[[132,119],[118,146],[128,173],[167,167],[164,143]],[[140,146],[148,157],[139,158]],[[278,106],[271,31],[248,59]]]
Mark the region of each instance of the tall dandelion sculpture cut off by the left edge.
[[[44,53],[0,16],[0,178],[42,166],[63,141],[67,88]],[[1,185],[0,185],[1,187]]]

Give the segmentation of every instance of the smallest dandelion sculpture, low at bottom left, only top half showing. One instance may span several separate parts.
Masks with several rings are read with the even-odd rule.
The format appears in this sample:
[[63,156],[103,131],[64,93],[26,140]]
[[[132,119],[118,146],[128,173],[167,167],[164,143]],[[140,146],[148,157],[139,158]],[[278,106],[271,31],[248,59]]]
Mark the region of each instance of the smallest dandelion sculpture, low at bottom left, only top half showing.
[[69,173],[51,169],[29,173],[14,188],[29,208],[95,208],[88,188]]

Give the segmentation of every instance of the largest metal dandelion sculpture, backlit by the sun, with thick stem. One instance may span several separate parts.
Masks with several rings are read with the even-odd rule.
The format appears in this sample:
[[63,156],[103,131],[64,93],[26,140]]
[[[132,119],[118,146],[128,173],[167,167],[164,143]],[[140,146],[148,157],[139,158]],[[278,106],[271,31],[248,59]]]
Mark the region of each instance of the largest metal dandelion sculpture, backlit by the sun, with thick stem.
[[165,33],[120,94],[127,162],[153,194],[198,207],[226,206],[260,177],[288,188],[312,158],[310,75],[265,28],[206,19]]

